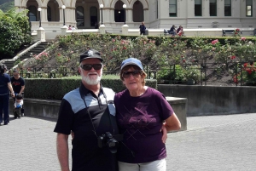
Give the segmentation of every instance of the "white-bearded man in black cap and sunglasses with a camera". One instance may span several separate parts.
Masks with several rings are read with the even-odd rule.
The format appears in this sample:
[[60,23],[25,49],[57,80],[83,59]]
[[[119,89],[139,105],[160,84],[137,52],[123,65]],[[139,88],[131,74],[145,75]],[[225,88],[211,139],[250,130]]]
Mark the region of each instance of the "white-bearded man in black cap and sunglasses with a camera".
[[[95,49],[80,54],[80,88],[65,94],[61,101],[59,118],[55,126],[57,133],[57,155],[61,171],[69,170],[68,136],[72,140],[72,170],[117,171],[115,152],[118,134],[113,105],[114,92],[103,88],[102,57]],[[109,142],[109,143],[108,143]]]

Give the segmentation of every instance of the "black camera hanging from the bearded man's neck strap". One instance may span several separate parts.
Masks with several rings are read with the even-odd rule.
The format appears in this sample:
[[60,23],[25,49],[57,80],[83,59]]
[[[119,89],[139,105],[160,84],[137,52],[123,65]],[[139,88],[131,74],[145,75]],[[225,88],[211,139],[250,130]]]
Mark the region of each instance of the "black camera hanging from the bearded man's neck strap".
[[[118,140],[122,140],[123,135],[121,135],[121,134],[115,135],[115,138],[117,138]],[[111,151],[112,153],[116,153],[117,147],[119,145],[118,140],[114,139],[114,137],[111,133],[106,132],[106,134],[102,134],[102,135],[98,136],[98,146],[100,148],[107,146],[109,151]]]

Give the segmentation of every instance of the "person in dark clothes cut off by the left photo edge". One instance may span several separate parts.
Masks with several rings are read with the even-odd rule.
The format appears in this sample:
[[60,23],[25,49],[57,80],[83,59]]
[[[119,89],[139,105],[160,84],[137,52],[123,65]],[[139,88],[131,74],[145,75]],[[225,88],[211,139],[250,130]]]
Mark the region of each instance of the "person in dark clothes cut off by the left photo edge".
[[4,72],[4,65],[0,64],[0,124],[7,125],[9,123],[9,91],[12,97],[15,97],[15,92],[9,74]]

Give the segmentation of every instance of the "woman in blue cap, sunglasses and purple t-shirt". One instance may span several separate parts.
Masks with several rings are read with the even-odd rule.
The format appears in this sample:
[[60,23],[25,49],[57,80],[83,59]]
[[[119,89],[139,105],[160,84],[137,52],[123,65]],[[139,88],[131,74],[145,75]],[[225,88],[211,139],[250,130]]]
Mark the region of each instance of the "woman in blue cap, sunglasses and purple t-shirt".
[[160,128],[178,130],[181,124],[163,94],[145,86],[140,60],[121,64],[126,89],[114,97],[116,118],[124,140],[119,145],[119,171],[166,171],[166,145]]

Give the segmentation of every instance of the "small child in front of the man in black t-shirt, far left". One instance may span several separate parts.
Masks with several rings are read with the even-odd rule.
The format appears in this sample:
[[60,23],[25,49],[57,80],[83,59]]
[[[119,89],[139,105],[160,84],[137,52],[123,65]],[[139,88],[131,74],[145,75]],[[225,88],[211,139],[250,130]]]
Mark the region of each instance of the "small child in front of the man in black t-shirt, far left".
[[24,117],[23,94],[15,94],[14,98],[14,116],[15,118]]

